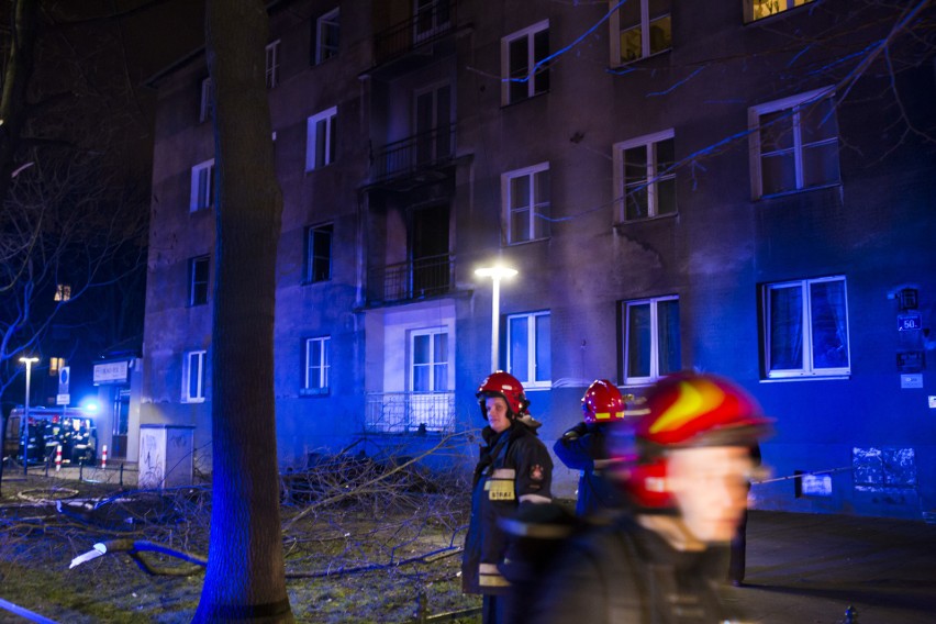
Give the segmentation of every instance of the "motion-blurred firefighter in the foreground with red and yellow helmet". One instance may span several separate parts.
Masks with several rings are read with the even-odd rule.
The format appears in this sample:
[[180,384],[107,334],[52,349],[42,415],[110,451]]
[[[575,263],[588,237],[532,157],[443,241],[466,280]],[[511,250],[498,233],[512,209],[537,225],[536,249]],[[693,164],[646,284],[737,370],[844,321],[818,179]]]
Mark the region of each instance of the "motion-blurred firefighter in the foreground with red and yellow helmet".
[[633,515],[568,544],[536,592],[531,622],[736,619],[715,586],[747,504],[748,449],[769,421],[750,395],[714,375],[666,377],[646,398],[648,413],[635,426],[638,464],[620,481]]

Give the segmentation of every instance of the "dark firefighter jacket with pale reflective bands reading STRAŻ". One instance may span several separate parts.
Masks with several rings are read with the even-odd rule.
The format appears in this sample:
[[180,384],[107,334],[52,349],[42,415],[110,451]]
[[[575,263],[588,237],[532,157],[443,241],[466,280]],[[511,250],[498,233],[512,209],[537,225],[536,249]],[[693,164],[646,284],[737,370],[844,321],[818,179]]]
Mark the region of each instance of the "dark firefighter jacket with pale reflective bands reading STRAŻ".
[[484,442],[475,468],[471,523],[461,557],[461,589],[467,593],[508,593],[502,566],[509,539],[499,525],[512,519],[521,503],[551,499],[553,460],[536,432],[522,422],[498,435],[481,432]]

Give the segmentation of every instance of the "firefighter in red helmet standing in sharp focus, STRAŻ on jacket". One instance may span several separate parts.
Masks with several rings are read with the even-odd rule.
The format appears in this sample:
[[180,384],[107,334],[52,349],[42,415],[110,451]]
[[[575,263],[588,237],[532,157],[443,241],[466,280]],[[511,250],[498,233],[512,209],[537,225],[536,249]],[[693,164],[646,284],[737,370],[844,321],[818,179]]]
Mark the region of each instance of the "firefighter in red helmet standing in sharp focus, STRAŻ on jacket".
[[482,622],[510,622],[510,582],[503,575],[510,536],[500,520],[511,520],[521,506],[551,500],[553,460],[536,435],[539,423],[530,415],[521,382],[503,371],[491,374],[478,388],[484,445],[475,468],[471,521],[461,558],[461,587],[482,595]]

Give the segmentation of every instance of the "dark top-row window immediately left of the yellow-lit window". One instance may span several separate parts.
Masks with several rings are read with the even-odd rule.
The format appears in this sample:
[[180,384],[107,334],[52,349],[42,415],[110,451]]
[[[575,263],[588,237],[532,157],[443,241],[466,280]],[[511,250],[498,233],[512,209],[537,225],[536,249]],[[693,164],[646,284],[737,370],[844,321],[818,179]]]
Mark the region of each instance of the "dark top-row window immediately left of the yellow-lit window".
[[520,102],[549,90],[549,21],[501,40],[501,103]]

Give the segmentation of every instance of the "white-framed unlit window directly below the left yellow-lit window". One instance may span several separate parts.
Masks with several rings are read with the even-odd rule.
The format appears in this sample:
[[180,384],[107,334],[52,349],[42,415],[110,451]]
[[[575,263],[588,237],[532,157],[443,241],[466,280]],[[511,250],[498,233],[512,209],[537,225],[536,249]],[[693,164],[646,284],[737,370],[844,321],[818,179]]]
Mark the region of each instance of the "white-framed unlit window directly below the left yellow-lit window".
[[615,197],[624,221],[676,213],[672,130],[614,145]]

